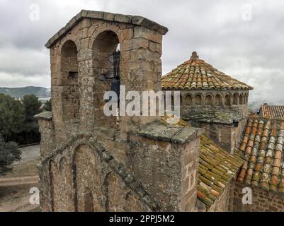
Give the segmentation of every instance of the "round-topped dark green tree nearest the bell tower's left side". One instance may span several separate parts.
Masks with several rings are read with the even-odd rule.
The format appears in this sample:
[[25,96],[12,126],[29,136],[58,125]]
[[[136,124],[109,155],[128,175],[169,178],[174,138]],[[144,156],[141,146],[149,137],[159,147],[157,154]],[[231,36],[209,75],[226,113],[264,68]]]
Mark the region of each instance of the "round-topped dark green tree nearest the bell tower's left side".
[[22,98],[23,107],[25,108],[25,123],[30,123],[35,121],[35,114],[41,112],[41,102],[38,97],[31,95],[24,95]]

